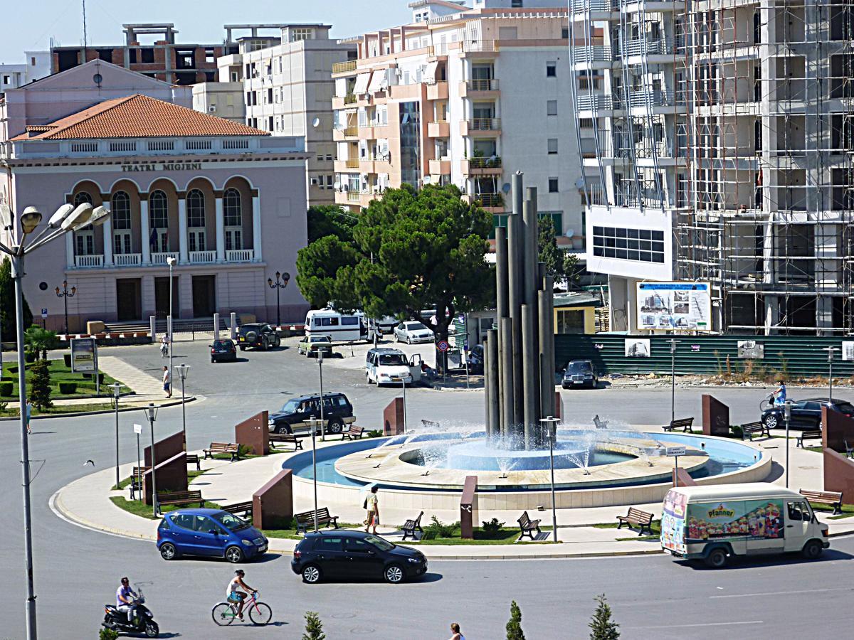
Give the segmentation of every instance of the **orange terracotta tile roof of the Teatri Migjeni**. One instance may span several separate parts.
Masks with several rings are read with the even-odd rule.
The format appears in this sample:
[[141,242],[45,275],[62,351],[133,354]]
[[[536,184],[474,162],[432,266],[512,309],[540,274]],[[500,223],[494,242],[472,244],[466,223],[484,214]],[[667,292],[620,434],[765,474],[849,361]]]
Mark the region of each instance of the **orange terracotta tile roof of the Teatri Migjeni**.
[[[100,102],[15,140],[101,137],[268,136],[266,131],[140,94]],[[33,135],[35,134],[35,135]]]

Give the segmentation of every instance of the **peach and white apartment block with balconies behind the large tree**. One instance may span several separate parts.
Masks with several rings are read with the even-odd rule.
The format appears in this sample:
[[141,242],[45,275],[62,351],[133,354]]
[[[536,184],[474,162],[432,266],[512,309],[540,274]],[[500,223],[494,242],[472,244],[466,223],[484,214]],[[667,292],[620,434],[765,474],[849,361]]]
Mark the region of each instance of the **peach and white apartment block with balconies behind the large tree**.
[[337,203],[359,211],[402,183],[453,183],[502,224],[522,171],[561,245],[583,248],[568,13],[510,4],[420,0],[412,23],[345,41],[358,56],[332,73]]

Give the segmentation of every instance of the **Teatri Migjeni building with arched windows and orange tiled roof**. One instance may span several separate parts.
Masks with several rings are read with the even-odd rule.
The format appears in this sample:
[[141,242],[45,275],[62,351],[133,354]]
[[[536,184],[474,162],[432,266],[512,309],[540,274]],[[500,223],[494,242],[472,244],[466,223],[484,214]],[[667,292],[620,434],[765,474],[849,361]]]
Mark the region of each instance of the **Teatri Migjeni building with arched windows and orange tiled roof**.
[[[76,70],[74,70],[76,71]],[[73,73],[73,72],[68,72]],[[45,220],[61,204],[91,202],[108,222],[67,234],[26,261],[25,295],[61,329],[67,281],[69,329],[214,312],[276,316],[266,280],[292,275],[282,317],[302,317],[296,252],[307,242],[306,154],[300,137],[264,131],[134,94],[27,125],[0,155],[0,201],[35,206]]]

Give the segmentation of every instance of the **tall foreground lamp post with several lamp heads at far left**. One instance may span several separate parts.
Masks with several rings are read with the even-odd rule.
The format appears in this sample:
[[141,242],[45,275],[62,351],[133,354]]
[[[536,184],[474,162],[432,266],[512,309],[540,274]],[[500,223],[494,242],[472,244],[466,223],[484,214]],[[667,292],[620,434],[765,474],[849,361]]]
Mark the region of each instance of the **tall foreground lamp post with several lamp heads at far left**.
[[[44,247],[50,241],[68,232],[82,229],[87,224],[103,224],[109,215],[105,207],[92,207],[85,202],[78,207],[65,204],[50,216],[48,224],[36,236],[32,236],[42,214],[35,207],[26,207],[18,219],[9,206],[0,204],[0,224],[5,231],[9,246],[0,241],[0,251],[12,260],[12,279],[15,281],[15,324],[17,328],[16,349],[18,352],[18,400],[20,402],[20,465],[24,506],[24,561],[26,563],[26,637],[34,640],[36,630],[36,594],[32,579],[32,525],[30,509],[30,449],[26,433],[26,369],[24,368],[24,259],[27,255]],[[27,244],[27,240],[29,243]]]

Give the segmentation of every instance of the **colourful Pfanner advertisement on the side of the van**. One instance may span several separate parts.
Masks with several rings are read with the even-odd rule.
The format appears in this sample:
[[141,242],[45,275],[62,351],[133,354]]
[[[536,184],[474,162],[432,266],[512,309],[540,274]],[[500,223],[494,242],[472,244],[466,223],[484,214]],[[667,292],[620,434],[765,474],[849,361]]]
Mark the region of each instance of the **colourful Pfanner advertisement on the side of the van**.
[[687,542],[719,538],[783,537],[781,500],[736,500],[689,504]]

